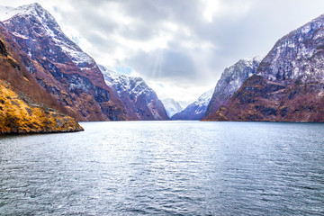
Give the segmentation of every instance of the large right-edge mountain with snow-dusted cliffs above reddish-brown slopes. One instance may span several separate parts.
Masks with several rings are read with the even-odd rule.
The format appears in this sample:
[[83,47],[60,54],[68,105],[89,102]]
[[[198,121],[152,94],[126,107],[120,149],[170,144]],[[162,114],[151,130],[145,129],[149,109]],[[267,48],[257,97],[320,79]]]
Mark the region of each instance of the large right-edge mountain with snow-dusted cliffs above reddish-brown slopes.
[[212,121],[324,121],[324,15],[275,43]]

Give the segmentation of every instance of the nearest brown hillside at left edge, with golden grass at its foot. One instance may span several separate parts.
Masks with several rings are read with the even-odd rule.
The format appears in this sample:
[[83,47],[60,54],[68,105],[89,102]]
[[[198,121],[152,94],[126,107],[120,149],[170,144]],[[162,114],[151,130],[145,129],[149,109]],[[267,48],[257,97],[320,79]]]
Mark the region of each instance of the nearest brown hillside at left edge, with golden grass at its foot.
[[64,107],[23,66],[10,46],[18,44],[2,23],[0,38],[0,134],[83,130],[75,119],[59,112]]

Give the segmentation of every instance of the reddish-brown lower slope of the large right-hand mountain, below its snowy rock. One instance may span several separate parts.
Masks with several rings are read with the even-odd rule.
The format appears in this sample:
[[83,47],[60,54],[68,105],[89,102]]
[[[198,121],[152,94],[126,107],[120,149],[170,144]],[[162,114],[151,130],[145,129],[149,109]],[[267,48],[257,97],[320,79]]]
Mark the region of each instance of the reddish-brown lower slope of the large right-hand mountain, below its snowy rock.
[[205,121],[324,122],[324,85],[281,85],[254,75]]

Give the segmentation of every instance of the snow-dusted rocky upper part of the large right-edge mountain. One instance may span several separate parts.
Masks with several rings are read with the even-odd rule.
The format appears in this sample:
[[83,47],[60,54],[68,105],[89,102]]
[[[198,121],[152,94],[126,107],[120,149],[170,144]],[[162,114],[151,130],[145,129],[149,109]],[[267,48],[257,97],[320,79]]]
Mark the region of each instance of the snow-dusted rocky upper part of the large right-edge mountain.
[[262,60],[257,75],[282,84],[324,82],[323,41],[321,15],[278,40]]

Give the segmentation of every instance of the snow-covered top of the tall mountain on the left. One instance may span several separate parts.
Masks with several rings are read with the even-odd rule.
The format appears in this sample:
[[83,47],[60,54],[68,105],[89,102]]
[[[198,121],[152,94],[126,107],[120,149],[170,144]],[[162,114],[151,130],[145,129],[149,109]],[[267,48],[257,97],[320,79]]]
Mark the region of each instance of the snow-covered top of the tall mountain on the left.
[[[41,40],[50,39],[55,42],[53,45],[63,50],[77,67],[94,67],[94,59],[67,38],[55,18],[40,4],[34,3],[17,8],[1,6],[0,11],[2,12],[0,20],[14,36],[30,40],[31,46],[35,47]],[[49,52],[49,55],[58,55],[56,49],[50,49]]]

